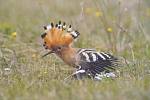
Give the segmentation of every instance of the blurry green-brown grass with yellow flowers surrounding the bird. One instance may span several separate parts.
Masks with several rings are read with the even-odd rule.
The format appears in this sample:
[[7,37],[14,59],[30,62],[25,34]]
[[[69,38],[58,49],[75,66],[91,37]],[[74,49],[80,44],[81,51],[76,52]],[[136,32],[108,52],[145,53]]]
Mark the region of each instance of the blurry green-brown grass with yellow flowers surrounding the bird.
[[[150,99],[149,0],[1,0],[0,12],[0,100]],[[42,26],[58,20],[79,30],[76,47],[126,58],[120,77],[64,82],[74,69],[41,58]]]

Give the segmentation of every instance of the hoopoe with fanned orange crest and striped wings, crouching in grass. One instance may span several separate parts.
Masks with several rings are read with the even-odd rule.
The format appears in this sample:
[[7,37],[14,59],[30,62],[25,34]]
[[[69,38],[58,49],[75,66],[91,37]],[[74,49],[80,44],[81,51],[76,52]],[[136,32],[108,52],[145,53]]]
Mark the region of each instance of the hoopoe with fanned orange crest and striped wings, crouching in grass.
[[[73,76],[82,79],[88,76],[92,79],[101,80],[102,76],[115,77],[110,69],[115,69],[118,59],[111,54],[97,52],[94,49],[73,48],[72,43],[80,33],[73,30],[72,26],[66,23],[44,26],[45,32],[41,35],[45,49],[50,50],[44,56],[55,53],[66,64],[75,67],[77,70]],[[43,57],[44,57],[43,56]],[[105,74],[101,74],[105,73]]]

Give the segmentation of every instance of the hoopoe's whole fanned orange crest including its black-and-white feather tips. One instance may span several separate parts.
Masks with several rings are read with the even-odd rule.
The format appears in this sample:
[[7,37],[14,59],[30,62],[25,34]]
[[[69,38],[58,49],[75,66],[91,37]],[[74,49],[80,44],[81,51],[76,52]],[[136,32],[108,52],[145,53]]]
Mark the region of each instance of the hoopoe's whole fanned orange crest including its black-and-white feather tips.
[[80,33],[72,29],[72,26],[67,26],[65,22],[58,24],[51,23],[44,26],[45,32],[41,35],[44,40],[43,46],[46,49],[51,49],[54,46],[70,46],[74,39],[78,38]]

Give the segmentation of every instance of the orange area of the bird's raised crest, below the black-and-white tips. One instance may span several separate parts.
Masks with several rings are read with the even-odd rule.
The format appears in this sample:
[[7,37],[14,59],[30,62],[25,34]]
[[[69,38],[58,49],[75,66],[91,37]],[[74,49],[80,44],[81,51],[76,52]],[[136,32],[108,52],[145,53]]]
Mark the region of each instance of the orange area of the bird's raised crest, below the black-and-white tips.
[[[58,29],[59,28],[59,29]],[[46,29],[46,35],[43,37],[45,47],[48,49],[52,49],[55,46],[70,46],[73,42],[74,38],[72,35],[65,31],[62,27],[52,27],[50,29]]]

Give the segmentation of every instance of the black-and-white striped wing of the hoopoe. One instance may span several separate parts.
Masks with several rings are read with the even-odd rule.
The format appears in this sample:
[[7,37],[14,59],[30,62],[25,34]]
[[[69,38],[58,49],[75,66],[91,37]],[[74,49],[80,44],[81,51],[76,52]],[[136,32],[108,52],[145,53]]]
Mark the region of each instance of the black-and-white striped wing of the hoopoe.
[[78,57],[80,58],[80,69],[90,72],[94,76],[101,72],[110,72],[118,65],[118,59],[114,56],[91,49],[79,50]]

